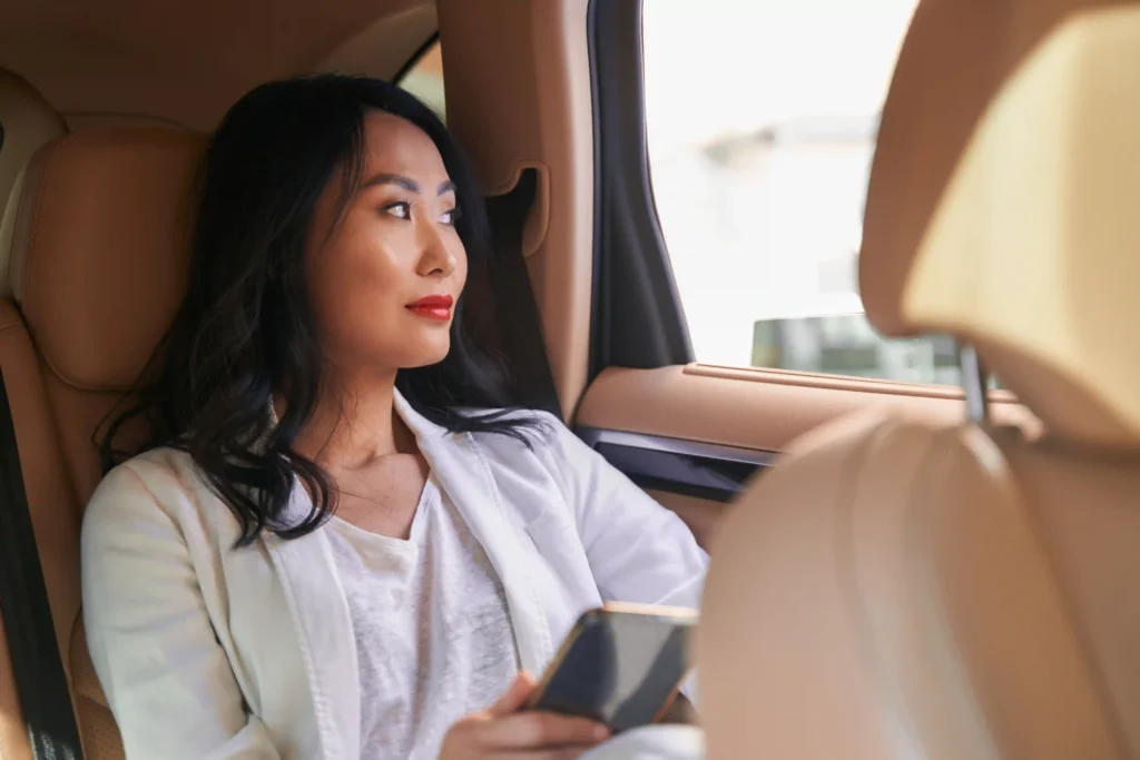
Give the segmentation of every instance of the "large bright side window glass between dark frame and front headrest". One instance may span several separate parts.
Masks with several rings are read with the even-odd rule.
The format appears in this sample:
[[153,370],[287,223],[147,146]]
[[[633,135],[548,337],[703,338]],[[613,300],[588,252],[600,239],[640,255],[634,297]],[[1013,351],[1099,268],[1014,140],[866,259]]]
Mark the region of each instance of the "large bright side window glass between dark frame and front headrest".
[[644,0],[653,194],[699,361],[959,382],[951,338],[881,338],[857,287],[915,5]]

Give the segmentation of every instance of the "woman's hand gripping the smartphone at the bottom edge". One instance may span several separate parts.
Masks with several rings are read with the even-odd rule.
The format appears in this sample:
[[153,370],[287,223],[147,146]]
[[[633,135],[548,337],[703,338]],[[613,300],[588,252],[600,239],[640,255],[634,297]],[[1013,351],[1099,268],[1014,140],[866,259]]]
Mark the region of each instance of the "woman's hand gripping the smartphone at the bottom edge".
[[520,673],[489,710],[458,720],[443,737],[439,760],[573,760],[610,737],[585,718],[520,708],[535,680]]

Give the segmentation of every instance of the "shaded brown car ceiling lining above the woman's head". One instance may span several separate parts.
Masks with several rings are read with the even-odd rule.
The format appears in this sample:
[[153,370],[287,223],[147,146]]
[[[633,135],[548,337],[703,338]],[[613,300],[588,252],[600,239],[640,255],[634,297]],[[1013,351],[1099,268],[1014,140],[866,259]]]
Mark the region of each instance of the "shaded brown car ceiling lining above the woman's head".
[[73,131],[142,116],[213,130],[261,82],[311,71],[389,79],[437,28],[432,0],[3,3],[0,67]]

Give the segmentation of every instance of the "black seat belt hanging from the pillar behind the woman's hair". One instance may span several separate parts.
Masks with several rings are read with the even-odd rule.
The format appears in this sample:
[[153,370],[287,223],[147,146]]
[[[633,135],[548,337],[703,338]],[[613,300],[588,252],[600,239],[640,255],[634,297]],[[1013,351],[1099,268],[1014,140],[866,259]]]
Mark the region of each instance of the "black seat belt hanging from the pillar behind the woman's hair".
[[562,406],[546,353],[543,320],[522,250],[523,229],[537,188],[538,171],[526,169],[508,193],[487,198],[487,213],[495,234],[495,251],[489,263],[490,286],[495,322],[514,375],[519,402],[561,419]]

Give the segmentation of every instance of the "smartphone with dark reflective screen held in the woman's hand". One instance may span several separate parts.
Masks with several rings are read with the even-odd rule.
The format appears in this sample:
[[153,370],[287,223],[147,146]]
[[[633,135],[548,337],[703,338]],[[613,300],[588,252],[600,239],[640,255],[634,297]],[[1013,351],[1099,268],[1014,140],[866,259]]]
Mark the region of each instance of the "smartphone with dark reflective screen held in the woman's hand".
[[528,708],[583,716],[617,733],[656,722],[689,671],[695,610],[610,603],[583,613]]

